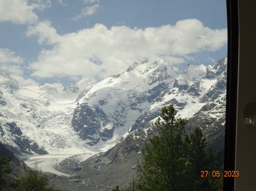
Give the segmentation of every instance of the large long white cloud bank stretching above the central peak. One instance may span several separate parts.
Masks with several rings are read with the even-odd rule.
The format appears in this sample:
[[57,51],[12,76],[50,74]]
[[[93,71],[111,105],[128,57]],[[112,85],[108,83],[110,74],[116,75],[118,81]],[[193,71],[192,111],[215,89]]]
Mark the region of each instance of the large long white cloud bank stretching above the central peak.
[[[49,23],[30,28],[40,42],[53,45],[30,64],[40,78],[87,76],[106,78],[123,72],[140,58],[162,57],[174,64],[192,53],[216,51],[227,44],[227,29],[212,30],[196,19],[146,29],[95,24],[90,29],[58,35]],[[46,30],[47,29],[47,30]],[[50,32],[52,31],[52,32]],[[97,63],[95,63],[95,59]]]

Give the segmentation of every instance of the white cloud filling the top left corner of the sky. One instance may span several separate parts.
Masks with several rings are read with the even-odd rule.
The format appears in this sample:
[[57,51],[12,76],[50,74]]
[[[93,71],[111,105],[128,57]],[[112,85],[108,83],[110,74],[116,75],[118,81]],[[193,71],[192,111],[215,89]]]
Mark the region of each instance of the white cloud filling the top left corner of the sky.
[[38,20],[32,5],[24,0],[0,0],[0,21],[16,24],[34,23]]

